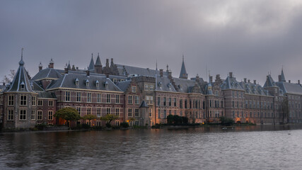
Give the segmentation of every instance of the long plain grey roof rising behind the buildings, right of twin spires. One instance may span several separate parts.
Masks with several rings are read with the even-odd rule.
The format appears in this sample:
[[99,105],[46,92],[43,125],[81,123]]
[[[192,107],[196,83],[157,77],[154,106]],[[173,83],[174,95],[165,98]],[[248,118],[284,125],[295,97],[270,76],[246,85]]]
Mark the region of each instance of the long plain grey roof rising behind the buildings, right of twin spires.
[[[122,64],[116,64],[117,70],[120,76],[128,76],[131,74],[137,74],[138,76],[147,76],[147,77],[155,77],[155,75],[159,75],[159,71],[155,69],[146,69],[141,67],[132,67]],[[163,75],[168,76],[167,72],[163,72]]]

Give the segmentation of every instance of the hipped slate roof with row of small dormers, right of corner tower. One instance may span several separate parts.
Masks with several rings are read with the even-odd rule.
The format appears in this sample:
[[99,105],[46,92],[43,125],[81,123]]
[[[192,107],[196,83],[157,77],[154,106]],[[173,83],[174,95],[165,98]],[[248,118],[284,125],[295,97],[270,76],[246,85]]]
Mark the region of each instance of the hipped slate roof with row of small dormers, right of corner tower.
[[[76,80],[79,81],[79,85],[76,86]],[[88,86],[86,86],[88,82]],[[98,82],[98,86],[97,86]],[[105,88],[105,84],[108,84],[108,89]],[[52,81],[47,89],[55,88],[71,88],[71,89],[87,89],[87,90],[100,90],[100,91],[121,91],[110,79],[103,76],[86,74],[64,74],[64,77]]]

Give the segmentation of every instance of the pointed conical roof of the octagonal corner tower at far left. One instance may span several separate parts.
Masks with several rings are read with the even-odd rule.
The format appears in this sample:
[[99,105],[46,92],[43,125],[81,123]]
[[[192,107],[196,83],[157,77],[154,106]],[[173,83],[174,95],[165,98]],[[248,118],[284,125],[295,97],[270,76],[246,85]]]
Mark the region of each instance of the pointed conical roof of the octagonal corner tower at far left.
[[33,92],[33,89],[30,86],[30,81],[28,79],[28,73],[25,70],[24,64],[25,62],[23,62],[23,48],[22,48],[19,68],[7,92],[14,92],[14,91]]

